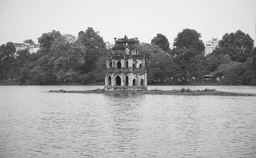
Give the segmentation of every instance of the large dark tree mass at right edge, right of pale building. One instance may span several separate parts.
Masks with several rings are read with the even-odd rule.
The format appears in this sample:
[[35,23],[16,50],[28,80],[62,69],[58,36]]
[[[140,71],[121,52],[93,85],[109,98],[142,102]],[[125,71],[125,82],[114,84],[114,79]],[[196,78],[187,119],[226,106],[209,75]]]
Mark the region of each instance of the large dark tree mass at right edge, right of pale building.
[[219,42],[219,48],[207,55],[207,69],[223,76],[222,82],[226,84],[255,84],[256,58],[252,49],[253,40],[248,34],[241,30],[226,33]]

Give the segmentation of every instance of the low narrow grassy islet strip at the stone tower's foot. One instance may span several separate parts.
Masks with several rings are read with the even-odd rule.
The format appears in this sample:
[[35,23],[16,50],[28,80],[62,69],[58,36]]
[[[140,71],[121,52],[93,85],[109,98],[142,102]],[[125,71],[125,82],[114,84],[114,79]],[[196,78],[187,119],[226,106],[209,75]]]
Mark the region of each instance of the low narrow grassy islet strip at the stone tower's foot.
[[[182,90],[182,89],[181,89]],[[200,96],[200,95],[212,95],[212,96],[256,96],[255,94],[242,94],[232,92],[215,91],[215,89],[209,89],[208,91],[192,91],[181,92],[181,90],[147,90],[147,91],[104,91],[102,89],[85,90],[85,91],[66,91],[63,89],[56,91],[49,91],[48,93],[81,93],[81,94],[152,94],[152,95],[183,95],[183,96]]]

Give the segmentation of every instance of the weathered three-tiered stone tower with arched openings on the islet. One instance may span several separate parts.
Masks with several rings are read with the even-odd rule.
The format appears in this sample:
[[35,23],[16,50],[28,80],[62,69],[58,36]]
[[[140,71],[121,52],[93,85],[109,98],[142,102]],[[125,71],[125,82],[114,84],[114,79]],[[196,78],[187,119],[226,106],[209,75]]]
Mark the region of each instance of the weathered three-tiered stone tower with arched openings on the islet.
[[112,54],[106,59],[105,91],[146,90],[145,56],[135,46],[138,38],[114,39]]

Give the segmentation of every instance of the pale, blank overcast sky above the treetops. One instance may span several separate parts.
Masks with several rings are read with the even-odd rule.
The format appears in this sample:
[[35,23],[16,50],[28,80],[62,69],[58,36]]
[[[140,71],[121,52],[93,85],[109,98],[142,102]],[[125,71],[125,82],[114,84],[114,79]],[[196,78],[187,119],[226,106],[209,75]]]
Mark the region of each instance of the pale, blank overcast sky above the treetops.
[[239,29],[255,41],[256,1],[0,0],[0,21],[0,44],[25,39],[37,43],[51,30],[77,36],[88,27],[99,31],[105,42],[124,35],[151,42],[161,33],[172,44],[185,28],[197,30],[204,41]]

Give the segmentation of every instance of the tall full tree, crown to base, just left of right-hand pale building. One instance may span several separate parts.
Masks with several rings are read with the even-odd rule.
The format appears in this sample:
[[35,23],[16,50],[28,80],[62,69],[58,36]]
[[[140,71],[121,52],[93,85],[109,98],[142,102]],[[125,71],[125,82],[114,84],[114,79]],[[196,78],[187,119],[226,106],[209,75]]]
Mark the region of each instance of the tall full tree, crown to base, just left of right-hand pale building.
[[205,47],[200,37],[196,30],[184,29],[174,39],[175,48],[167,52],[181,67],[182,79],[196,77],[196,81],[199,81],[204,74]]

